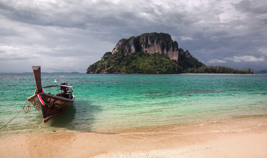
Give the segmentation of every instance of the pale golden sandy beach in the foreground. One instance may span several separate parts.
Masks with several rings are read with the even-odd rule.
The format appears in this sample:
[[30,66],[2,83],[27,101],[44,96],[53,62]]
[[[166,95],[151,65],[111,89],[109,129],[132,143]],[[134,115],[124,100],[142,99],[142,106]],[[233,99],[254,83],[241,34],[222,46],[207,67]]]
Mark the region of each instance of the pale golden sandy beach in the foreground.
[[267,157],[267,116],[1,136],[0,157]]

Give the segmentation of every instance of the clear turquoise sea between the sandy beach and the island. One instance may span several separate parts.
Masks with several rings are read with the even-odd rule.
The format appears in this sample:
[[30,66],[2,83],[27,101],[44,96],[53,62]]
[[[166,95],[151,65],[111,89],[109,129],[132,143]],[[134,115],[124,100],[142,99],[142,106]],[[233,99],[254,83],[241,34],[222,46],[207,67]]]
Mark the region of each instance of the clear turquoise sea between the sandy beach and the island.
[[[61,74],[42,74],[42,86]],[[76,100],[48,121],[23,114],[32,74],[0,74],[0,136],[92,131],[267,115],[267,75],[66,74]],[[45,90],[44,90],[45,91]],[[53,93],[52,93],[53,94]],[[1,128],[0,127],[0,128]]]

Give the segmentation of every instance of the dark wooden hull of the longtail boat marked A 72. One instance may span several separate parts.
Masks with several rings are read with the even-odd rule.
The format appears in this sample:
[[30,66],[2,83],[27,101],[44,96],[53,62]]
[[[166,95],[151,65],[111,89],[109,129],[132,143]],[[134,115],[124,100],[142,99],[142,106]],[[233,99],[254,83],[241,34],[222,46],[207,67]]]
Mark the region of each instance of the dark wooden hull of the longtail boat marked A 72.
[[42,105],[36,94],[29,97],[28,101],[30,101],[31,104],[43,115],[44,122],[47,122],[51,118],[62,114],[71,108],[73,101],[75,100],[75,96],[73,94],[71,95],[72,99],[67,99],[46,93],[41,94],[42,98],[49,103],[48,105]]

